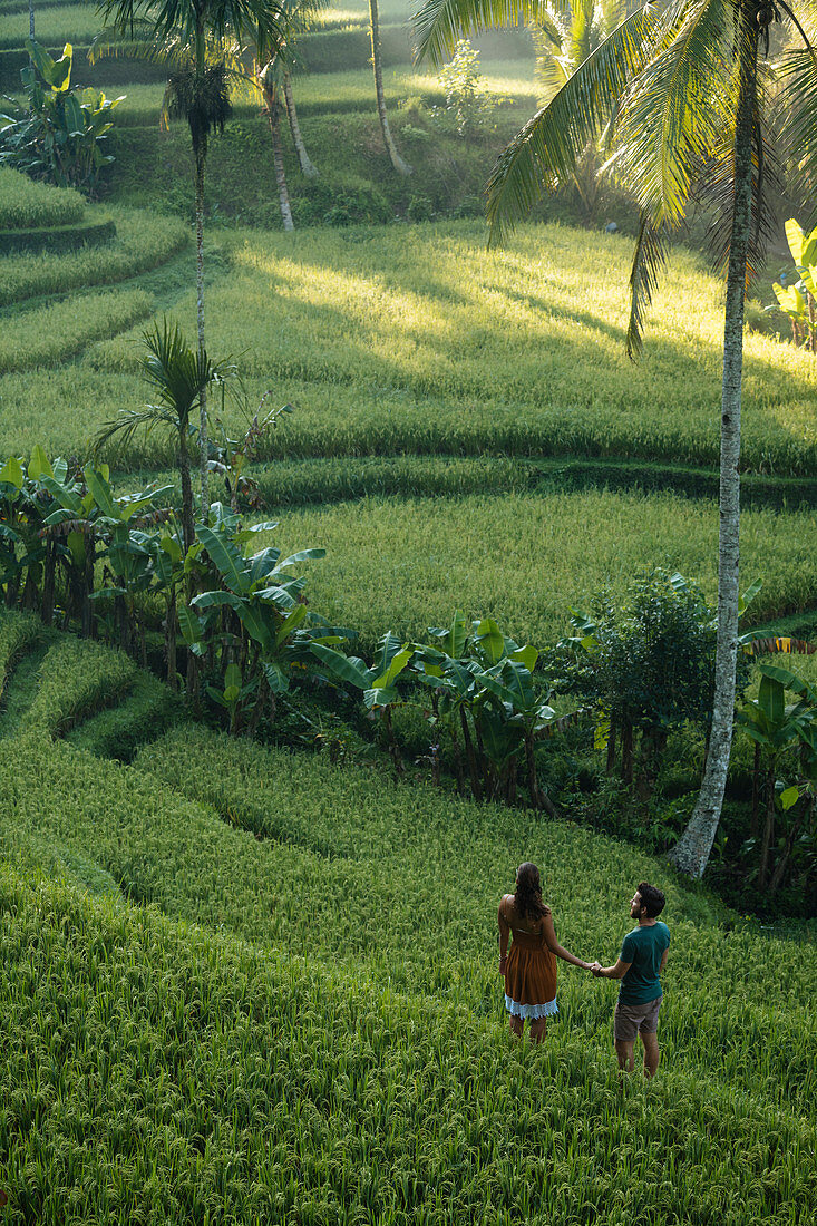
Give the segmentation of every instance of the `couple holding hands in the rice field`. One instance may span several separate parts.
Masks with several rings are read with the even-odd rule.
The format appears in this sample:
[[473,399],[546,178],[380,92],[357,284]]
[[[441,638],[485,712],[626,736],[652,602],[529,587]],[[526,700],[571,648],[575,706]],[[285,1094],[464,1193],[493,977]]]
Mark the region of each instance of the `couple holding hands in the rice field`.
[[503,895],[499,904],[499,973],[505,981],[505,1009],[510,1014],[512,1034],[520,1037],[527,1019],[531,1042],[542,1042],[547,1019],[558,1013],[556,959],[563,958],[566,962],[590,971],[596,978],[621,980],[613,1016],[618,1067],[633,1069],[635,1038],[640,1035],[644,1074],[653,1076],[660,1058],[660,976],[670,949],[670,929],[658,918],[664,902],[661,890],[642,881],[629,905],[631,920],[637,920],[638,927],[624,937],[615,966],[583,962],[556,939],[553,915],[542,902],[536,864],[520,864],[516,869],[515,893]]

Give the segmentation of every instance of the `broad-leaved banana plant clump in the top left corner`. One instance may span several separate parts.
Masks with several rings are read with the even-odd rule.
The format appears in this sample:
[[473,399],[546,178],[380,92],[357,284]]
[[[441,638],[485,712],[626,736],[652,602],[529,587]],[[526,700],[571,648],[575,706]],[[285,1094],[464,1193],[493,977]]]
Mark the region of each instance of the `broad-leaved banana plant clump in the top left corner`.
[[91,87],[70,88],[74,48],[65,44],[59,60],[33,39],[26,40],[31,65],[20,74],[27,107],[0,116],[0,162],[50,179],[60,188],[93,188],[104,166],[112,112],[119,99]]

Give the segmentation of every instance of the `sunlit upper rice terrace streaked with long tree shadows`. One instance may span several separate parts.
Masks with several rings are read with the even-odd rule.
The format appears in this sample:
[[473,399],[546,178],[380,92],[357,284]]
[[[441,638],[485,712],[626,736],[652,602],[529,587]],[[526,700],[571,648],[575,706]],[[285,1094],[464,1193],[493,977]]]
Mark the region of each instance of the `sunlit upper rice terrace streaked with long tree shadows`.
[[[677,253],[633,368],[623,352],[626,244],[527,227],[487,253],[474,223],[224,235],[233,271],[209,298],[227,351],[299,408],[270,455],[585,454],[716,463],[718,287]],[[600,283],[599,260],[610,276]],[[618,273],[616,273],[618,270]],[[269,309],[270,294],[275,311]],[[188,324],[194,298],[179,304]],[[90,354],[132,368],[128,337]],[[810,473],[808,356],[747,337],[745,462]],[[298,385],[301,387],[298,389]]]

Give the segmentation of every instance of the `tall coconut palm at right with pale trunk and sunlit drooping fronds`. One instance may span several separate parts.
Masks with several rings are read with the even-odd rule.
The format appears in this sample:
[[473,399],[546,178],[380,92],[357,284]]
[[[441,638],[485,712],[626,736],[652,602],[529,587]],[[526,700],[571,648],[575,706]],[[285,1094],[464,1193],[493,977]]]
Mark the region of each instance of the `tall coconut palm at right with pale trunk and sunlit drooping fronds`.
[[[438,63],[464,32],[536,21],[537,0],[428,0],[415,18],[420,53]],[[763,185],[774,166],[764,105],[768,27],[784,0],[669,0],[645,4],[578,66],[553,99],[503,151],[488,181],[498,242],[548,189],[568,178],[589,140],[606,128],[607,169],[635,192],[640,230],[631,273],[627,351],[642,347],[643,315],[666,256],[669,233],[694,199],[715,208],[713,254],[726,268],[720,423],[720,538],[715,699],[700,793],[672,859],[700,877],[720,820],[732,738],[738,617],[740,438],[743,304],[769,217]],[[805,39],[805,34],[802,36]],[[817,150],[817,59],[806,39],[791,69],[800,87],[790,132]],[[812,156],[813,161],[813,156]]]

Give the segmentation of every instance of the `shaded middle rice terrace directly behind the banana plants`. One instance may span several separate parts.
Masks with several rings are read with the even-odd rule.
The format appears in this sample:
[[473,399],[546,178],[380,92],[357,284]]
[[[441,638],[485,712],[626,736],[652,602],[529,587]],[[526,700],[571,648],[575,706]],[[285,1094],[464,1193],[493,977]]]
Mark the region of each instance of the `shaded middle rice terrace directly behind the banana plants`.
[[[812,531],[808,512],[743,514],[745,586],[763,581],[747,625],[813,604]],[[326,548],[310,600],[367,647],[386,630],[416,641],[462,608],[542,649],[562,636],[570,607],[604,587],[616,600],[651,566],[681,571],[709,601],[716,590],[716,504],[670,494],[366,499],[294,510],[275,539],[290,549],[307,538]]]

